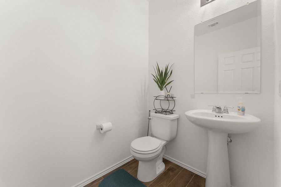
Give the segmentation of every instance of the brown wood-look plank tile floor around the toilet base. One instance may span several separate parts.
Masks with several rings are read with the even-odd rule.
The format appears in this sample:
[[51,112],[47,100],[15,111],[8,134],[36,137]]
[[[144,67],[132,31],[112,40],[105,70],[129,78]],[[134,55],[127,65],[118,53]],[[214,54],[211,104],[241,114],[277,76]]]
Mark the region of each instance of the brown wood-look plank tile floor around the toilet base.
[[[201,177],[167,159],[163,159],[165,170],[150,182],[143,182],[147,187],[205,187],[205,178]],[[139,161],[133,159],[113,171],[103,175],[84,187],[98,187],[100,182],[112,172],[124,169],[137,178]]]

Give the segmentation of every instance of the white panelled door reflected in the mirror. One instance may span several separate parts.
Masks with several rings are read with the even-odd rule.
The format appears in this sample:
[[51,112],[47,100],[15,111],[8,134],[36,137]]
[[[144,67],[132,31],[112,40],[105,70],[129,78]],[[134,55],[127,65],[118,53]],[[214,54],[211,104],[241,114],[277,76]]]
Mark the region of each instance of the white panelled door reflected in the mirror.
[[259,93],[260,47],[218,55],[218,93]]

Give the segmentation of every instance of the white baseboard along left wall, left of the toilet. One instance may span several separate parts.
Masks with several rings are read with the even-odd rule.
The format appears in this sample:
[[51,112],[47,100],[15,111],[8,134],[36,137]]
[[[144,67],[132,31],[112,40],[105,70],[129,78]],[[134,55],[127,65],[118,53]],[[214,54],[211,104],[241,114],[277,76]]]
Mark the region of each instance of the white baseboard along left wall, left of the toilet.
[[123,164],[125,164],[126,162],[128,162],[128,161],[130,161],[132,159],[133,159],[133,156],[129,156],[128,158],[124,159],[123,161],[118,162],[117,164],[112,165],[112,166],[110,166],[109,168],[107,168],[105,170],[102,170],[101,172],[91,176],[90,178],[88,178],[88,179],[86,179],[86,180],[84,180],[84,181],[82,181],[82,182],[80,182],[80,183],[78,183],[78,184],[76,184],[76,185],[74,185],[72,187],[83,187],[84,185],[89,184],[90,182],[100,178],[101,176],[105,175],[106,173],[108,173],[108,172],[118,168],[120,165],[123,165]]

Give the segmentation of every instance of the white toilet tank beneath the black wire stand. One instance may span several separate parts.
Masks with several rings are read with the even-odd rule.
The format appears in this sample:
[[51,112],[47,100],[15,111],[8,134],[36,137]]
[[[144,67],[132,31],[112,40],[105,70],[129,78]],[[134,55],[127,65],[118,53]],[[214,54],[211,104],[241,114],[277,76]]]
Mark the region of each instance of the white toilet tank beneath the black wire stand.
[[151,113],[151,131],[155,137],[171,141],[176,137],[177,114]]

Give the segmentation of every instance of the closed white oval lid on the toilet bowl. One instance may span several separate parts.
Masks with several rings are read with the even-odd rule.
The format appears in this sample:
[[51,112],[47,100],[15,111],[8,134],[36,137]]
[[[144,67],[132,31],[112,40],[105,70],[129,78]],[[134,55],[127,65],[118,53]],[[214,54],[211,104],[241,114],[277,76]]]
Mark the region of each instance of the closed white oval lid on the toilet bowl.
[[153,137],[137,138],[131,143],[131,147],[137,151],[153,151],[161,146],[161,141]]

